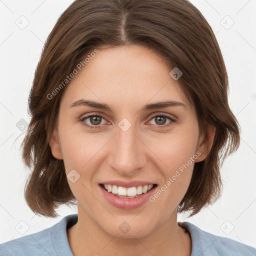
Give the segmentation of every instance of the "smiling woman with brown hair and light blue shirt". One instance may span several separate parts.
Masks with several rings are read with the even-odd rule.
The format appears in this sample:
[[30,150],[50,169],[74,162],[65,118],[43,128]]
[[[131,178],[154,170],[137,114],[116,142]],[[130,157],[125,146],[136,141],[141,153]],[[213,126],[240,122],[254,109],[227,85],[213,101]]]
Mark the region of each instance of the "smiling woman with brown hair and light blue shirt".
[[212,29],[186,0],[76,0],[37,65],[23,159],[33,212],[78,214],[3,255],[256,255],[177,213],[220,195],[239,145]]

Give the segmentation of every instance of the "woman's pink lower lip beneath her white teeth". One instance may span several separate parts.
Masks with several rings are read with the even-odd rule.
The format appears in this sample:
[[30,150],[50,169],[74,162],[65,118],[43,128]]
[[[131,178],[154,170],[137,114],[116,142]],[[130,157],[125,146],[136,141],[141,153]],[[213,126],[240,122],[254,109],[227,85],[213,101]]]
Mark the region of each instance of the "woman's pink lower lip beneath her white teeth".
[[146,192],[144,194],[140,194],[134,198],[118,197],[111,192],[107,192],[101,185],[99,185],[99,187],[100,187],[104,197],[110,204],[112,204],[113,206],[115,206],[117,208],[129,210],[129,209],[138,208],[138,207],[142,206],[146,201],[148,201],[149,200],[148,198],[153,194],[153,192],[157,186],[153,187],[148,192]]

